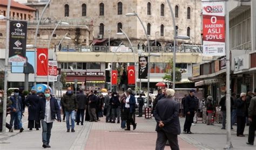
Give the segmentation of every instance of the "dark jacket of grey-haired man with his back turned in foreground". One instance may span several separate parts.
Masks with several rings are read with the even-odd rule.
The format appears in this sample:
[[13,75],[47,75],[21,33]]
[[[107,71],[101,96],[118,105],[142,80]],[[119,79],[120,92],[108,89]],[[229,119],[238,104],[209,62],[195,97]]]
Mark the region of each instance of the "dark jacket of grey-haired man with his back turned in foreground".
[[[179,103],[170,98],[158,101],[156,110],[154,110],[154,118],[157,121],[156,131],[163,130],[166,133],[180,134],[179,123]],[[158,126],[163,121],[164,127]]]

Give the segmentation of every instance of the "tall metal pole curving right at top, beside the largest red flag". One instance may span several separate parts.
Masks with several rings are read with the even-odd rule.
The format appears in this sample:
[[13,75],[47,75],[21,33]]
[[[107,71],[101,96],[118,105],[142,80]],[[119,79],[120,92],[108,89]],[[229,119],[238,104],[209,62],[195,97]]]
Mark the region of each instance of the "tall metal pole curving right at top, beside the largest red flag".
[[[48,5],[51,3],[51,0],[48,1],[48,3],[45,5],[42,13],[41,13],[41,16],[37,22],[37,27],[36,27],[36,33],[35,33],[35,44],[34,44],[34,47],[35,47],[35,78],[34,78],[34,86],[35,86],[35,89],[36,89],[36,78],[37,78],[37,33],[38,33],[38,28],[39,28],[39,25],[40,25],[40,22],[41,22],[41,19],[44,15],[44,12],[46,10],[46,8],[48,7]],[[48,72],[48,71],[47,71]]]

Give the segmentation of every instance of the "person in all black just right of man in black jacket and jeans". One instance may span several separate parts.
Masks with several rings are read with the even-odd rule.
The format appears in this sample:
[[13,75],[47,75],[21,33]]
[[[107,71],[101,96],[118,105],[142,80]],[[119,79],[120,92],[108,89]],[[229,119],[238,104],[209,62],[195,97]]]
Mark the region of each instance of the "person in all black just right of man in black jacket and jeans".
[[79,94],[76,96],[77,98],[77,115],[76,115],[76,121],[77,125],[81,123],[81,125],[84,125],[84,111],[86,109],[86,102],[87,102],[87,97],[85,94],[83,94],[83,90],[79,90]]

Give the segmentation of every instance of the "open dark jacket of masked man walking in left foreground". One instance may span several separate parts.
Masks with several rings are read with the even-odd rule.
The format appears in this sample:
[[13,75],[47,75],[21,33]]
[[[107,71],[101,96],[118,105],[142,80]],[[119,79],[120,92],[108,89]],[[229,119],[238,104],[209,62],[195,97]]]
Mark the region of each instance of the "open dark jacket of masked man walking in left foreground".
[[[44,120],[45,103],[46,103],[45,97],[39,99],[35,120],[37,120],[37,121]],[[51,107],[51,119],[52,120],[56,119],[56,116],[57,116],[57,120],[61,121],[62,119],[60,117],[60,109],[59,109],[59,104],[57,102],[57,99],[51,97],[50,107]]]

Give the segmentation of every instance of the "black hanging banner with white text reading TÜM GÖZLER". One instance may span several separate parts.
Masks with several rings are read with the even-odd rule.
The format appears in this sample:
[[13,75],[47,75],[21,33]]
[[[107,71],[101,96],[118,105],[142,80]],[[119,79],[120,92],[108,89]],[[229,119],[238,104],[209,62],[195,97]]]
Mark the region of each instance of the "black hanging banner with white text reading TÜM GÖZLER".
[[26,62],[27,22],[10,21],[9,62]]

